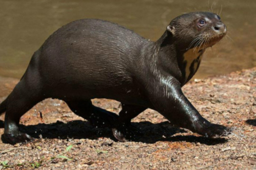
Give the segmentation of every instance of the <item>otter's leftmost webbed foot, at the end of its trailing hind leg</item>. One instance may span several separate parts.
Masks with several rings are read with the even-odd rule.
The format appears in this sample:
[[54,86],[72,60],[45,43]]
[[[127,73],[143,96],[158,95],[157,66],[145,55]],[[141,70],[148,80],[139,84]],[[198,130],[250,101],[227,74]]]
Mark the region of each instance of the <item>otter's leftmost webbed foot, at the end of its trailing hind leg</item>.
[[2,135],[1,138],[4,143],[10,143],[10,144],[26,143],[26,142],[32,142],[35,140],[33,137],[29,136],[26,133],[20,133],[19,135],[5,133]]

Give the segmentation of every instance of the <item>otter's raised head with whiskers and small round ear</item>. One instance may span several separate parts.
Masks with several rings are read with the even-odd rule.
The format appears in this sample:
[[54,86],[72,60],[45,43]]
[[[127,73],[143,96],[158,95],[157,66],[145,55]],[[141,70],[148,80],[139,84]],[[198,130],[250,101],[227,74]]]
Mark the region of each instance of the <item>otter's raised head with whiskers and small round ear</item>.
[[227,28],[217,14],[192,12],[173,19],[167,26],[167,32],[178,49],[187,51],[196,48],[200,51],[221,40]]

